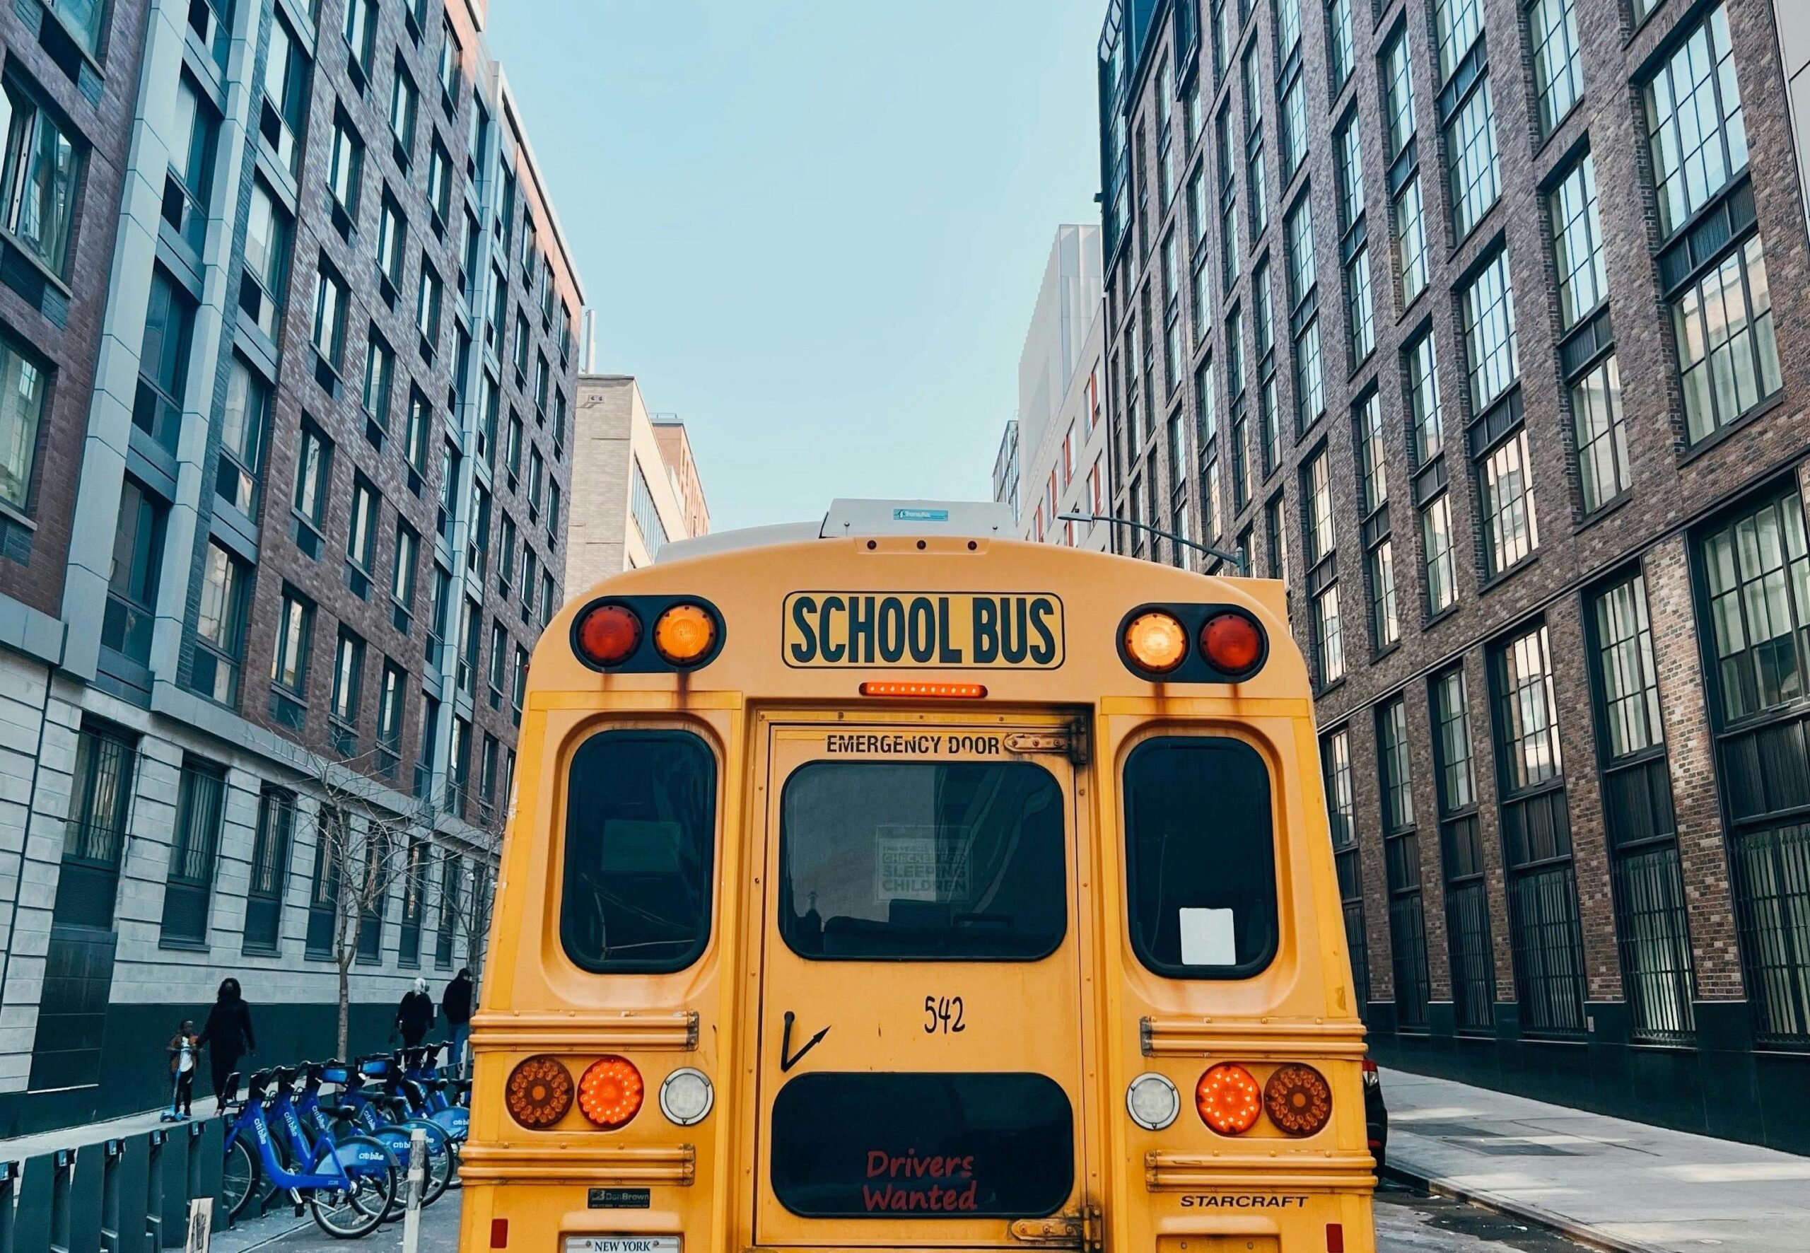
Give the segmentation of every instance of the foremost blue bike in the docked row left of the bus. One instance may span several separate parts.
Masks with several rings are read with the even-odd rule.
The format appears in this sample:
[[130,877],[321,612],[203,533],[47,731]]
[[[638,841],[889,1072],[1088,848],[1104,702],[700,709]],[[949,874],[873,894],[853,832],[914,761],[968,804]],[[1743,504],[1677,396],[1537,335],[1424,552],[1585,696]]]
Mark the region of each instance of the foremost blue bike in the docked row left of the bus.
[[[293,1072],[290,1072],[293,1079]],[[297,1164],[290,1170],[277,1152],[270,1117],[264,1110],[272,1072],[262,1070],[246,1081],[246,1097],[233,1108],[239,1076],[226,1081],[221,1110],[232,1114],[226,1128],[226,1162],[223,1193],[228,1213],[241,1217],[266,1184],[284,1188],[297,1206],[308,1204],[315,1226],[337,1239],[369,1235],[396,1202],[402,1168],[382,1143],[367,1135],[349,1135],[333,1141],[326,1135],[313,1143],[302,1133],[295,1108],[281,1105],[281,1126],[288,1152]],[[281,1085],[279,1085],[281,1086]],[[281,1094],[279,1094],[281,1095]],[[326,1108],[326,1106],[322,1106]],[[328,1110],[328,1117],[351,1119],[351,1112]]]

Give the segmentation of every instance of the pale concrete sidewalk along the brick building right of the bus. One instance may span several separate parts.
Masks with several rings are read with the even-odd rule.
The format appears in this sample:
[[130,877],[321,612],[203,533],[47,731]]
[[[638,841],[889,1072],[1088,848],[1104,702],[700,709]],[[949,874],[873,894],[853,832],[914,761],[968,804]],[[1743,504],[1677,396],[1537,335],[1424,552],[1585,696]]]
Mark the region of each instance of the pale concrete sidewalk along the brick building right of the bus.
[[1810,1157],[1383,1072],[1388,1168],[1640,1253],[1805,1253]]

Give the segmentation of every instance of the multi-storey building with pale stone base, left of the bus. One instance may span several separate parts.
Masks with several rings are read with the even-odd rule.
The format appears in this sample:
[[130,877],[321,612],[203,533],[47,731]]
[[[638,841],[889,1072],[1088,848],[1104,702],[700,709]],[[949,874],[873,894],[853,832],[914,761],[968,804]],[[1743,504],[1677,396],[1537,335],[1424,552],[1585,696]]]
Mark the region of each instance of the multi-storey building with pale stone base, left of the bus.
[[281,1061],[480,961],[583,304],[481,0],[24,13],[0,1135],[154,1106],[226,974]]

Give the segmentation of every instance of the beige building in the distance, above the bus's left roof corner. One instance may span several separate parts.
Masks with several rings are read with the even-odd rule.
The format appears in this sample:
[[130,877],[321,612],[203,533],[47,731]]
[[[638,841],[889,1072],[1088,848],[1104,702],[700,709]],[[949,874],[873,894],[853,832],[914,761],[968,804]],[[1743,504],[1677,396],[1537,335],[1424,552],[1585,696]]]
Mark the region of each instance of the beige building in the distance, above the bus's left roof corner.
[[632,375],[577,377],[574,442],[568,596],[650,565],[668,540],[710,529],[684,424],[672,415],[655,422]]

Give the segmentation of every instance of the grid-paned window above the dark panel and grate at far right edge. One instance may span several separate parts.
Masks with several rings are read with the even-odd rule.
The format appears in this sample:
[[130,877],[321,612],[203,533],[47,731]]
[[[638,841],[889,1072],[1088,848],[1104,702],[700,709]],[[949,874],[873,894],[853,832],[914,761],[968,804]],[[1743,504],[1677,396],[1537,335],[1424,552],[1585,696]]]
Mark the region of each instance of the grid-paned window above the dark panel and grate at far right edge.
[[1810,668],[1810,549],[1790,493],[1701,543],[1725,722],[1805,697]]

